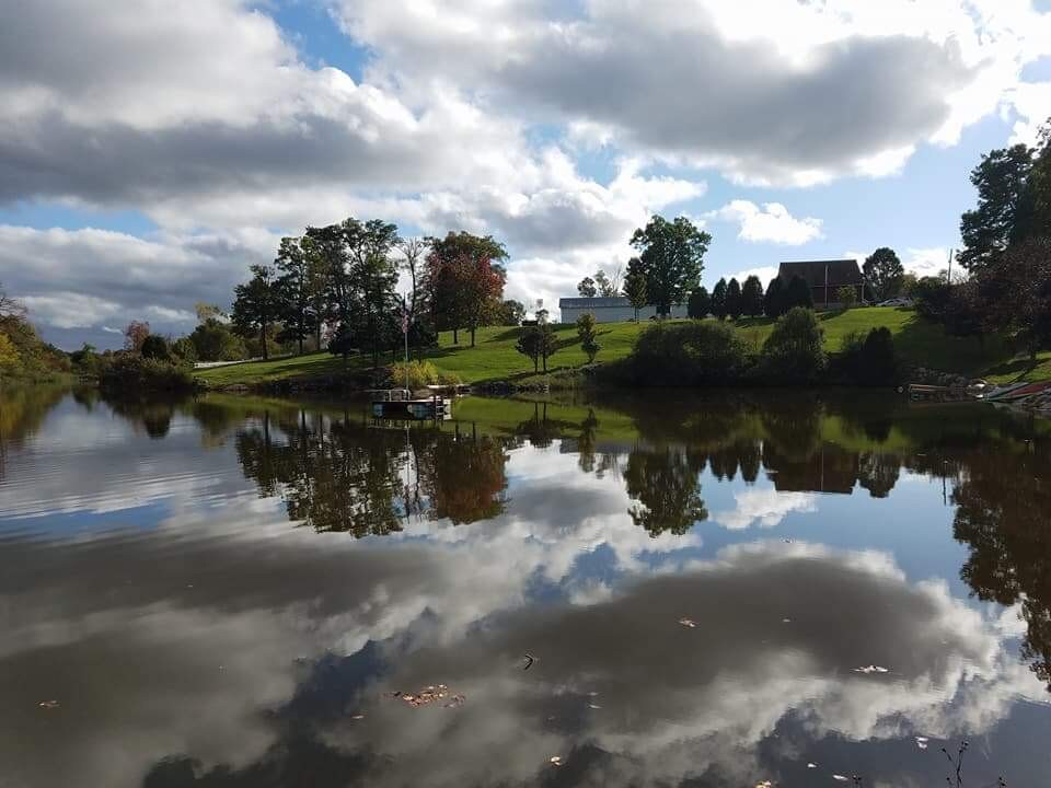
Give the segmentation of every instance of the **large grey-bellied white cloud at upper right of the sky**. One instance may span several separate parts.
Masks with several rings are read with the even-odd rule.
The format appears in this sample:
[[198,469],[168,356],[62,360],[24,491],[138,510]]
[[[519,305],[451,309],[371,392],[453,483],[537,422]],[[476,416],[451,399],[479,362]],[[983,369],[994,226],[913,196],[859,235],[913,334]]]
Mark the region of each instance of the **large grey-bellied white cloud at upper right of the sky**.
[[601,0],[554,20],[547,3],[513,1],[338,7],[380,53],[378,80],[482,83],[578,139],[797,185],[887,174],[924,141],[955,141],[1012,101],[1049,27],[1021,3],[989,2]]

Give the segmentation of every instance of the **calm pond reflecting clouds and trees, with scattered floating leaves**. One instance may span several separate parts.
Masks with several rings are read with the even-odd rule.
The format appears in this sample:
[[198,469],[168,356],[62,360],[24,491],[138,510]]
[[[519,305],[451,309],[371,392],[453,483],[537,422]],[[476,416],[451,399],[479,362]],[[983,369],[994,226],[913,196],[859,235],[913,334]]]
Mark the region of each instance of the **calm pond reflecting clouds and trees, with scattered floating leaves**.
[[37,389],[0,447],[2,786],[1051,783],[1047,421]]

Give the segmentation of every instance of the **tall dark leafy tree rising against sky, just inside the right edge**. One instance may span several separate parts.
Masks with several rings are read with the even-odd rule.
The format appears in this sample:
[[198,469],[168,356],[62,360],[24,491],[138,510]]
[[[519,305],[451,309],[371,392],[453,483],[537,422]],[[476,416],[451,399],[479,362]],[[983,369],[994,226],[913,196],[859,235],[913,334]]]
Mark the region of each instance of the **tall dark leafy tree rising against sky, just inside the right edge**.
[[1029,234],[1036,215],[1028,183],[1032,164],[1032,150],[1019,143],[990,151],[971,172],[978,207],[960,219],[965,248],[957,255],[968,270],[994,265],[1010,244]]

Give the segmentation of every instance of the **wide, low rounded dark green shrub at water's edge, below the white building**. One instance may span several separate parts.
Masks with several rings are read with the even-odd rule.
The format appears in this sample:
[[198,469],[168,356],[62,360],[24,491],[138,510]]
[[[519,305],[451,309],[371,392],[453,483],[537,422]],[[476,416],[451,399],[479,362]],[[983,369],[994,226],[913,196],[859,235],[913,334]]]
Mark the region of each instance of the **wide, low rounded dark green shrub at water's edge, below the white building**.
[[637,383],[725,385],[741,379],[749,354],[738,333],[721,323],[658,323],[639,335],[626,363]]

